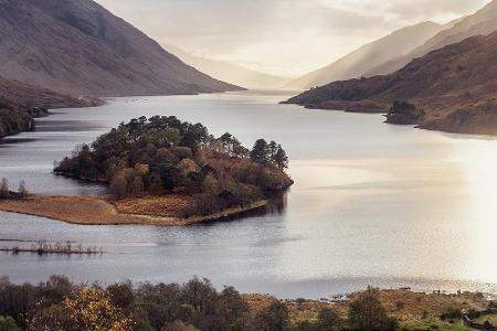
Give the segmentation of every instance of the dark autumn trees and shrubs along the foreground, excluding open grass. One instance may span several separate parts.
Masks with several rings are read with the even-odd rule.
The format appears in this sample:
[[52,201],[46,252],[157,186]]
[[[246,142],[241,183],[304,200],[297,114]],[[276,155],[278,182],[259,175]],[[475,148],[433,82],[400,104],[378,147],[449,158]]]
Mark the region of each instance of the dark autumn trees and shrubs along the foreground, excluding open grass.
[[368,288],[349,303],[346,316],[331,305],[315,316],[292,319],[286,301],[276,299],[258,307],[248,305],[233,287],[216,290],[208,279],[179,284],[129,281],[107,287],[74,285],[52,276],[39,285],[14,285],[0,279],[0,330],[57,331],[330,331],[396,330]]

